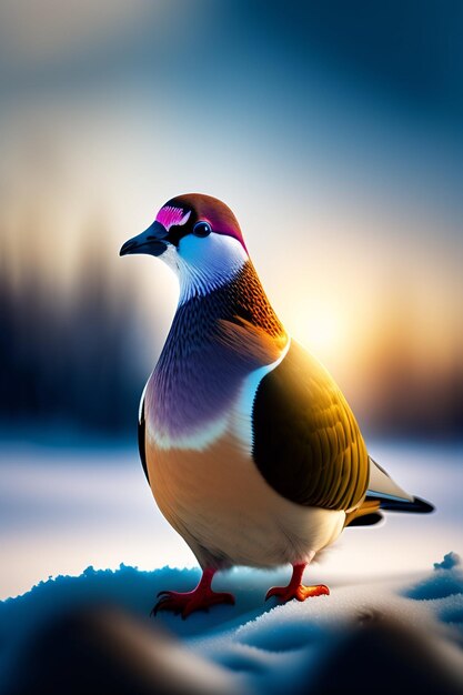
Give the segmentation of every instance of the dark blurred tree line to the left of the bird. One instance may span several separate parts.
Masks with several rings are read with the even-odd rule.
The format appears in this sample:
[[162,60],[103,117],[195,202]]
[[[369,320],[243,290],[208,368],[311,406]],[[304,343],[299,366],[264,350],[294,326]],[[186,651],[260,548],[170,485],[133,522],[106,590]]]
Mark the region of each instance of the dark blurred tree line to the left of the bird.
[[[102,255],[102,254],[101,254]],[[134,433],[152,364],[138,354],[134,291],[114,292],[91,249],[66,293],[29,268],[11,280],[0,261],[0,426]]]

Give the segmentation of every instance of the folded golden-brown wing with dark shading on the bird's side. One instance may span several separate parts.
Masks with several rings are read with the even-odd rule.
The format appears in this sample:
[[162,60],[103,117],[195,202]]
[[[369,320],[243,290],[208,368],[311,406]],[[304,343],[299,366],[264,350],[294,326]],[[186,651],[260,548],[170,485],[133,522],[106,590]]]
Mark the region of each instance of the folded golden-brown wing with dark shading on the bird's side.
[[281,495],[330,510],[361,503],[369,456],[359,426],[332,376],[296,342],[260,382],[252,426],[254,462]]

